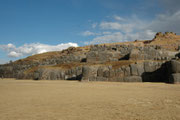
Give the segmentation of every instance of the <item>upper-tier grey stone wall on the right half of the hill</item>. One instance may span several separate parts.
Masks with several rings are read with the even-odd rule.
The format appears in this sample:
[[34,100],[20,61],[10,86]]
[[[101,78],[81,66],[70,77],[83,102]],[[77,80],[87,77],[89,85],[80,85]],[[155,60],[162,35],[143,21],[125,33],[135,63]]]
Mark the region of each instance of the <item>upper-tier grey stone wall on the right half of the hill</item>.
[[171,60],[178,52],[161,49],[160,46],[112,45],[92,46],[87,53],[87,62],[119,60]]

